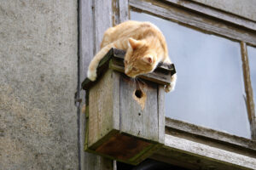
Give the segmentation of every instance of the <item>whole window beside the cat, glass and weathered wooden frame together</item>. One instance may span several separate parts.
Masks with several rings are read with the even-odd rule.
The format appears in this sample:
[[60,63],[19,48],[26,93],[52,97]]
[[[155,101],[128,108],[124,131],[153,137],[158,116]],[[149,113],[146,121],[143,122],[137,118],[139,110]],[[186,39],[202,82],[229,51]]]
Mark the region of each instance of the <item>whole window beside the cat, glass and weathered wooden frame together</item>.
[[160,27],[177,68],[176,91],[166,94],[166,144],[151,158],[189,169],[255,169],[247,155],[256,150],[255,61],[245,52],[256,45],[255,22],[191,1],[129,4],[131,20]]

